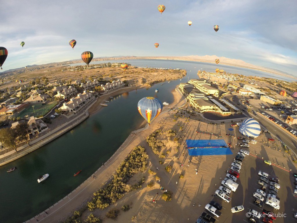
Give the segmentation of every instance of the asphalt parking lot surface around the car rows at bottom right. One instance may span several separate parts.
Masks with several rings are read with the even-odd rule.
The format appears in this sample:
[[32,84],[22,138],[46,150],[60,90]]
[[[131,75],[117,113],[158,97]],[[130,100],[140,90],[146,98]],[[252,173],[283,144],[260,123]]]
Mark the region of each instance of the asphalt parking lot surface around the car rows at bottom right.
[[[260,176],[258,176],[259,171],[268,173],[269,177],[279,178],[280,189],[277,193],[277,197],[280,198],[279,210],[274,210],[270,206],[265,205],[266,199],[263,202],[262,208],[254,204],[255,198],[253,197],[253,193],[256,192],[257,189],[261,188],[261,186],[257,183],[260,179]],[[215,219],[217,219],[216,222],[248,222],[246,214],[250,209],[254,209],[260,213],[262,213],[263,209],[273,212],[277,217],[277,219],[273,222],[276,223],[297,222],[297,219],[293,218],[293,214],[297,211],[297,197],[294,197],[293,195],[293,187],[295,188],[294,180],[295,178],[291,172],[274,165],[268,166],[267,164],[264,164],[261,158],[256,158],[252,154],[246,156],[242,162],[240,177],[236,181],[239,186],[236,192],[231,193],[231,201],[227,203],[219,197],[215,196],[213,198],[214,201],[222,204],[223,206],[221,210],[222,215],[219,218],[215,217]],[[214,188],[214,191],[217,190],[219,186],[221,185],[217,185],[217,187]],[[268,189],[264,192],[267,194]],[[209,201],[205,201],[205,204],[203,205],[206,205]],[[230,209],[238,205],[243,205],[244,211],[231,213]],[[262,219],[263,218],[261,217],[258,222],[262,222]]]

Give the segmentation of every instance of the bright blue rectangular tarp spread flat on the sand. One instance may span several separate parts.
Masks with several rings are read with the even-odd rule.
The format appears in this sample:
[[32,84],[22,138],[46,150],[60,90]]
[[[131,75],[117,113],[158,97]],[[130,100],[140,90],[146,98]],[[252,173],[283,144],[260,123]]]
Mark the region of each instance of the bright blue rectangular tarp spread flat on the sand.
[[186,140],[190,156],[211,156],[233,154],[223,139]]

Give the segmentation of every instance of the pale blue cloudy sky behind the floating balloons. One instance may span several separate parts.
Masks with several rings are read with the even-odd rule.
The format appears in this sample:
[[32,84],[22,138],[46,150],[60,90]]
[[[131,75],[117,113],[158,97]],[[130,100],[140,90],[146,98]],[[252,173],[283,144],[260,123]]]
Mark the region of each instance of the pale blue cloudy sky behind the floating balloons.
[[[162,15],[159,4],[166,7]],[[1,8],[0,46],[8,50],[1,71],[91,51],[94,57],[217,55],[297,76],[296,0],[10,0]]]

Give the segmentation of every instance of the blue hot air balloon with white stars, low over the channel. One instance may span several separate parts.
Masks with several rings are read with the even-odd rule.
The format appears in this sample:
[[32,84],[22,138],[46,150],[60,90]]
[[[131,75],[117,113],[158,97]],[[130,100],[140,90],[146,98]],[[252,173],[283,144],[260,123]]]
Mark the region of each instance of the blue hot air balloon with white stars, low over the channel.
[[142,98],[138,101],[138,112],[139,114],[149,123],[161,113],[163,105],[161,101],[154,97]]

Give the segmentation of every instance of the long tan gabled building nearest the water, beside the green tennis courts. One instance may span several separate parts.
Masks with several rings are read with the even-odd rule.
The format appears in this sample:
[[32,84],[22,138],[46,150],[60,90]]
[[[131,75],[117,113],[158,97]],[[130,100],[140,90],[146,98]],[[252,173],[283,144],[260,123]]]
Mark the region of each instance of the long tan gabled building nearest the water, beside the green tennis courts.
[[78,94],[75,98],[71,98],[67,103],[63,103],[63,106],[59,109],[78,114],[95,100],[96,98],[92,93],[83,91],[82,94]]

